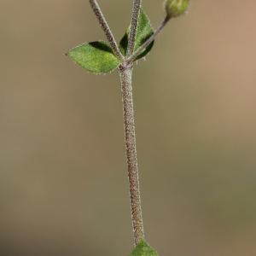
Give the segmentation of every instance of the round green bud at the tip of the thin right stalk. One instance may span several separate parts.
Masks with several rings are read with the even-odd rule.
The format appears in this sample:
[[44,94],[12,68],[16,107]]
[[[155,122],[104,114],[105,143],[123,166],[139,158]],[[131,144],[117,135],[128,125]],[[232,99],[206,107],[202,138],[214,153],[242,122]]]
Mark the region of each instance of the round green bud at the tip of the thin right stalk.
[[166,0],[166,14],[170,18],[185,14],[189,8],[189,0]]

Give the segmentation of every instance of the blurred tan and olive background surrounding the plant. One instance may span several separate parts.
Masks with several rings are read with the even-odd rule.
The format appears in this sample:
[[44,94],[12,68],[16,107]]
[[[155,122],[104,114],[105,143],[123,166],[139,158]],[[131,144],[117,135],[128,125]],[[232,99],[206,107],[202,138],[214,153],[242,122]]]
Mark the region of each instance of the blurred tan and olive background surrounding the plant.
[[[116,38],[131,0],[100,1]],[[144,1],[154,26],[161,1]],[[160,255],[256,254],[254,1],[192,1],[134,74],[147,239]],[[0,1],[0,254],[128,255],[117,73],[65,55],[104,39],[86,0]]]

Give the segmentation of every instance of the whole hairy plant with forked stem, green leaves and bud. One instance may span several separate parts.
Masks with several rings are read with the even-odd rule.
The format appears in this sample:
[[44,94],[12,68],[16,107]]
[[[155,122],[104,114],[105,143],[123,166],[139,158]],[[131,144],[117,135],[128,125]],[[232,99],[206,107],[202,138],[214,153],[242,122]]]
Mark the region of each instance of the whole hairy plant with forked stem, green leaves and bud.
[[119,44],[113,37],[98,2],[89,0],[89,3],[96,19],[102,26],[107,41],[80,44],[70,49],[67,55],[90,73],[110,73],[116,69],[119,72],[124,113],[125,151],[130,184],[131,220],[135,244],[130,256],[157,256],[158,253],[145,241],[143,231],[131,78],[134,62],[148,54],[154,46],[155,38],[172,18],[183,15],[187,11],[189,0],[166,0],[164,3],[166,15],[156,30],[151,26],[148,15],[142,8],[142,0],[133,0],[131,24]]

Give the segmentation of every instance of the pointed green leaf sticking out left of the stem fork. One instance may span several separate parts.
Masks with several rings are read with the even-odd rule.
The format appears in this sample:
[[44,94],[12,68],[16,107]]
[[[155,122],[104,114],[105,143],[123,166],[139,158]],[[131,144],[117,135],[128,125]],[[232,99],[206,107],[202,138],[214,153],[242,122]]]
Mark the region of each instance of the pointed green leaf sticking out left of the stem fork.
[[67,55],[91,73],[109,73],[119,67],[119,59],[104,41],[81,44],[70,49]]

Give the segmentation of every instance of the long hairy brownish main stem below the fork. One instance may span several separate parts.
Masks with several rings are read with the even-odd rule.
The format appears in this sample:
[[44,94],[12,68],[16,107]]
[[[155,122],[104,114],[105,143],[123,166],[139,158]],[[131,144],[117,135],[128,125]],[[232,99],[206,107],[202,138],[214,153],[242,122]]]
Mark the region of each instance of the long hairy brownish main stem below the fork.
[[135,119],[131,85],[132,67],[120,67],[119,74],[123,97],[125,148],[128,166],[128,177],[130,183],[131,219],[134,232],[134,241],[137,245],[144,239],[144,231],[137,168]]

